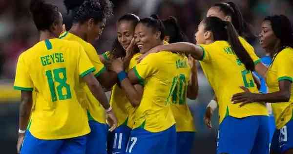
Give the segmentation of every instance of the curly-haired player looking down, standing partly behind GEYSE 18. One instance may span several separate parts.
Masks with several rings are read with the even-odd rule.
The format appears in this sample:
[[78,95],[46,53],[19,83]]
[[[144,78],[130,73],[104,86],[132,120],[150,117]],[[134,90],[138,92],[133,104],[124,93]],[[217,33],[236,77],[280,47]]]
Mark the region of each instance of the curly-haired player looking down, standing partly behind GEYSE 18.
[[[84,2],[83,2],[84,1]],[[95,66],[95,77],[105,88],[111,88],[117,81],[114,72],[106,70],[100,61],[96,49],[90,43],[98,39],[105,28],[106,19],[112,15],[112,3],[109,0],[64,0],[67,10],[72,10],[73,25],[68,32],[61,35],[63,40],[77,41],[84,47],[90,61]],[[87,136],[85,154],[106,154],[108,126],[105,121],[105,110],[84,85],[81,99],[84,101],[91,129]],[[117,119],[113,121],[110,132],[116,128]]]

